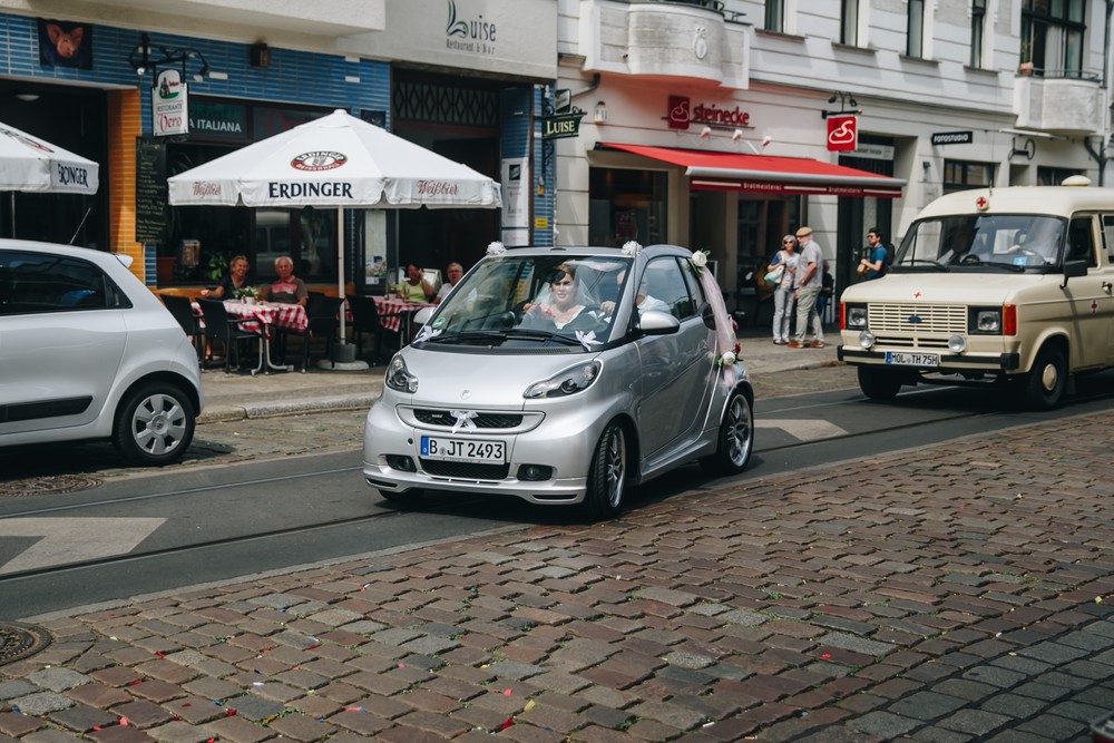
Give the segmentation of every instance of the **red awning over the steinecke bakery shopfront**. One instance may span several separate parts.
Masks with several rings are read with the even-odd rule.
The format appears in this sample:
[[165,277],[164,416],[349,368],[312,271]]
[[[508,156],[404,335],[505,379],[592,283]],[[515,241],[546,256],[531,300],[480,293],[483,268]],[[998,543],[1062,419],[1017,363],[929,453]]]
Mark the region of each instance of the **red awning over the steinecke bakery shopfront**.
[[755,190],[804,196],[899,198],[906,182],[805,157],[710,153],[672,147],[599,143],[606,149],[649,157],[685,168],[694,190]]

